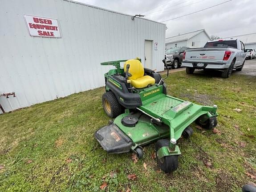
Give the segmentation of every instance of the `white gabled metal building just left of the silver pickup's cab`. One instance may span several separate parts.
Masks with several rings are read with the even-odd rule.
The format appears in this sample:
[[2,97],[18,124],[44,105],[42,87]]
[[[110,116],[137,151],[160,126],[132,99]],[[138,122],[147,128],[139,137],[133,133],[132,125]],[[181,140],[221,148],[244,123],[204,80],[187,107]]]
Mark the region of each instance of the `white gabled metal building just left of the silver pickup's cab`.
[[167,37],[165,39],[165,48],[179,48],[183,46],[199,48],[203,47],[209,40],[211,40],[210,36],[208,36],[204,29],[200,29],[177,36]]

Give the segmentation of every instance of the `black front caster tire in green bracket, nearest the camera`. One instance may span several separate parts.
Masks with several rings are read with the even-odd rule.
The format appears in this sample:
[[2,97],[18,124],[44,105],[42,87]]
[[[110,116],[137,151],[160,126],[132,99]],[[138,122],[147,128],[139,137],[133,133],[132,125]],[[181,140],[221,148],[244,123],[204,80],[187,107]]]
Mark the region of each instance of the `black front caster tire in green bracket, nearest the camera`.
[[[155,144],[155,151],[157,152],[159,148],[164,146],[169,146],[169,140],[158,140]],[[161,170],[166,173],[174,172],[178,168],[178,155],[164,156],[160,160],[157,158],[157,163]]]

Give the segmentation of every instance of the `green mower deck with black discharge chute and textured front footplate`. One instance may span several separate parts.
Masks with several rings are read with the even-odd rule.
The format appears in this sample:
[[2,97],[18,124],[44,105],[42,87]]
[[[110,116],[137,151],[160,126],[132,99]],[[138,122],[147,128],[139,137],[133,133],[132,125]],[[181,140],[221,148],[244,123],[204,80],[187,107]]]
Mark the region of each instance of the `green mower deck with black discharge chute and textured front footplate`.
[[[127,152],[130,150],[129,147],[143,146],[170,134],[171,138],[178,140],[185,128],[199,116],[207,114],[212,107],[193,104],[161,93],[144,100],[139,109],[150,112],[155,118],[161,119],[162,123],[154,121],[153,123],[150,116],[139,110],[119,115],[115,118],[113,124],[96,132],[98,134],[96,136],[97,140],[107,152]],[[126,116],[135,117],[138,122],[134,126],[127,126],[122,123],[122,119]],[[99,140],[99,138],[102,139]],[[132,144],[130,141],[132,141]]]

